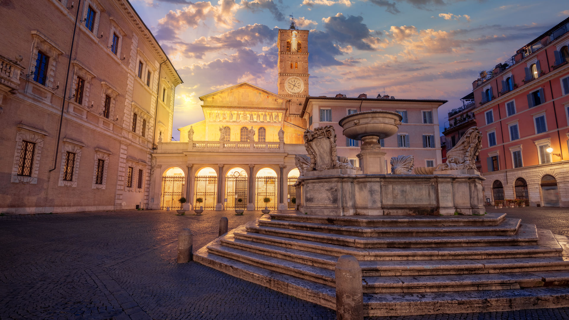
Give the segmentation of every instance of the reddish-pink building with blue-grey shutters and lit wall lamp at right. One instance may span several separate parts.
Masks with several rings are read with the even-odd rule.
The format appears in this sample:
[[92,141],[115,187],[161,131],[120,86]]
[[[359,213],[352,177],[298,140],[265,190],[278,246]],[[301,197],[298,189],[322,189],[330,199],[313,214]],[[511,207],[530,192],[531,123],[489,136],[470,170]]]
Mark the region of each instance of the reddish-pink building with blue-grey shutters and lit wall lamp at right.
[[472,83],[488,202],[569,207],[569,18]]

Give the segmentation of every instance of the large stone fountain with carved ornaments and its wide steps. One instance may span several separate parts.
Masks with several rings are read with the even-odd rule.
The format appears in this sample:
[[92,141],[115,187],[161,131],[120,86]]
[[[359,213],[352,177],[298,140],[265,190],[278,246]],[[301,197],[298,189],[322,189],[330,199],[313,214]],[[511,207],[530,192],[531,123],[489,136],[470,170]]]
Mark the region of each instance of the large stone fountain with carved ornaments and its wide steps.
[[233,276],[335,309],[338,257],[356,257],[365,315],[503,311],[569,306],[565,236],[506,214],[486,214],[471,128],[436,168],[391,159],[378,139],[397,113],[351,114],[347,137],[364,141],[362,170],[337,157],[332,126],[306,130],[298,155],[300,212],[241,225],[194,259]]

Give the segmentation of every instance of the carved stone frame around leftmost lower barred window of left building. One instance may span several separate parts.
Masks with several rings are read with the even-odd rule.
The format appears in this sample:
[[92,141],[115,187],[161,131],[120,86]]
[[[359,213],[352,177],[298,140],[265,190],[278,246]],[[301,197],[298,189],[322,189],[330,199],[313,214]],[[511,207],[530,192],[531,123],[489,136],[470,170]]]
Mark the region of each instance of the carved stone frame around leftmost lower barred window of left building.
[[[31,126],[18,124],[16,125],[16,150],[14,151],[14,165],[12,167],[12,176],[10,182],[23,184],[38,184],[39,161],[42,155],[43,142],[46,140],[48,133],[36,129]],[[30,177],[18,175],[18,166],[20,163],[20,154],[22,153],[22,142],[29,141],[35,143],[34,146],[34,163],[32,165]]]

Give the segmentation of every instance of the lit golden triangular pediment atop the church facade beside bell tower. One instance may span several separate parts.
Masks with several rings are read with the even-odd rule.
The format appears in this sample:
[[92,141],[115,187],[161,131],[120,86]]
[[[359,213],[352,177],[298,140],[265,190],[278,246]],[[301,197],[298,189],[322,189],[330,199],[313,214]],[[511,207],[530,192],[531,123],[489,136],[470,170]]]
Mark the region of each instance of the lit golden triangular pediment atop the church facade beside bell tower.
[[201,96],[204,106],[244,106],[262,108],[286,108],[289,100],[250,83],[240,83]]

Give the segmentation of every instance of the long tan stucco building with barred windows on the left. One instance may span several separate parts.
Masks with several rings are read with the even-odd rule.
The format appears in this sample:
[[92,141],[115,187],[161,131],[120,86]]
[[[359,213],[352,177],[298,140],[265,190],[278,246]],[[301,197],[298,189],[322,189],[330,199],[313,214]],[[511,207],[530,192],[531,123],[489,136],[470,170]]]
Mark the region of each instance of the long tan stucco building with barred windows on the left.
[[182,83],[150,30],[125,0],[10,3],[0,211],[147,207],[152,149],[172,130]]

